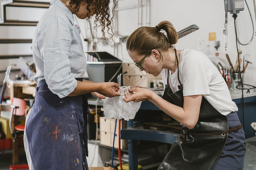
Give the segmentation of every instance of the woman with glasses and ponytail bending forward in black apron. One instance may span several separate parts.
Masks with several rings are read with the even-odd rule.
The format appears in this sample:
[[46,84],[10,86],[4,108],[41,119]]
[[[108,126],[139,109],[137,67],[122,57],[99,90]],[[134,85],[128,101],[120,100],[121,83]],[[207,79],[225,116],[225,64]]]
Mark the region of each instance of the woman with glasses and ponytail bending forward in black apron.
[[181,124],[158,169],[243,169],[245,135],[225,80],[204,53],[175,49],[177,39],[173,25],[163,21],[136,29],[126,44],[135,65],[161,74],[166,89],[162,98],[131,87],[123,100],[151,101]]

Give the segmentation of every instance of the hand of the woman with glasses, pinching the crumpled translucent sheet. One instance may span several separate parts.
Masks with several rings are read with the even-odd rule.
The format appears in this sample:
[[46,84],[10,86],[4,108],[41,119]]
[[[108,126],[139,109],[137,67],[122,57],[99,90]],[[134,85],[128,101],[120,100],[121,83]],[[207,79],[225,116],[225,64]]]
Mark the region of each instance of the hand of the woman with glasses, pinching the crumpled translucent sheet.
[[129,92],[130,93],[125,94],[125,98],[123,98],[127,103],[129,101],[138,102],[148,100],[150,99],[152,91],[143,87],[131,87]]

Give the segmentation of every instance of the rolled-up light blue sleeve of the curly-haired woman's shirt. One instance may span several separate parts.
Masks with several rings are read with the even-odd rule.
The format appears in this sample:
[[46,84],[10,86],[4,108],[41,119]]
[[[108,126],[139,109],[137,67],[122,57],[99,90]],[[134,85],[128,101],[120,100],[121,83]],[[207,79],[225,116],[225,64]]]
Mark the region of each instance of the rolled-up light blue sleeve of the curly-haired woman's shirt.
[[71,76],[69,54],[72,44],[71,23],[53,16],[39,36],[39,49],[44,62],[44,79],[49,90],[60,98],[68,96],[77,86]]

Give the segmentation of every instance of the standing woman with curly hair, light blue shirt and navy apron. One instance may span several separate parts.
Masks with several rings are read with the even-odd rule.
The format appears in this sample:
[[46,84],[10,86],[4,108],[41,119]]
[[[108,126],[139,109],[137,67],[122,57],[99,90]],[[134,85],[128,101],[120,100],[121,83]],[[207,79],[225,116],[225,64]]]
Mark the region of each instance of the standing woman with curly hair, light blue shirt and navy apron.
[[[86,73],[82,41],[73,14],[96,15],[94,23],[113,40],[110,0],[52,0],[32,41],[36,95],[26,118],[24,146],[30,169],[88,169],[85,94],[118,96],[114,82],[94,83]],[[113,3],[113,15],[116,2]],[[97,26],[97,24],[96,24]]]

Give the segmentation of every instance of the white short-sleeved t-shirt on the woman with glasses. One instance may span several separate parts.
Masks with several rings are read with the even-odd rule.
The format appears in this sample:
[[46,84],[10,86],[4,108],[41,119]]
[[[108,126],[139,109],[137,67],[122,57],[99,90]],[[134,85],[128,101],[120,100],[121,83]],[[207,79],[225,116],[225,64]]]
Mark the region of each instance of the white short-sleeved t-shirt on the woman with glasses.
[[[167,84],[167,71],[169,71],[171,90],[176,92],[180,84],[177,79],[177,70],[174,74],[171,74],[170,70],[162,70],[164,84]],[[183,96],[203,95],[218,112],[225,116],[230,112],[238,111],[224,78],[204,53],[192,49],[181,51],[179,79],[183,84]]]

